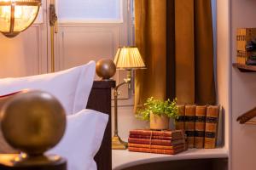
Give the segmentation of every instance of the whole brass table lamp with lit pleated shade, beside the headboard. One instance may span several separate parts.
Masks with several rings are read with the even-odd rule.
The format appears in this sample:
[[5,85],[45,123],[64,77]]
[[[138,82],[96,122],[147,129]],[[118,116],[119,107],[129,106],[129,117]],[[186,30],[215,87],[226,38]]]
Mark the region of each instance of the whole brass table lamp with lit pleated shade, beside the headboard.
[[127,77],[124,79],[125,82],[120,83],[114,88],[114,133],[112,138],[112,149],[113,150],[125,150],[127,143],[120,139],[118,134],[118,89],[124,84],[131,84],[131,71],[136,69],[145,69],[146,65],[143,62],[143,58],[137,47],[122,47],[118,48],[118,51],[113,60],[116,68],[119,70],[126,70]]

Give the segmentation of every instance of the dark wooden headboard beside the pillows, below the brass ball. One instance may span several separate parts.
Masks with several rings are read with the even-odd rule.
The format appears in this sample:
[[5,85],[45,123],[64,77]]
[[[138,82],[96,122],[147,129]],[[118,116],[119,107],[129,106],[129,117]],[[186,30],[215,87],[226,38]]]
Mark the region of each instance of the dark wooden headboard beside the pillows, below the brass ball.
[[98,170],[112,169],[111,149],[111,89],[115,87],[115,81],[95,81],[90,92],[87,109],[101,111],[109,116],[102,146],[95,156]]

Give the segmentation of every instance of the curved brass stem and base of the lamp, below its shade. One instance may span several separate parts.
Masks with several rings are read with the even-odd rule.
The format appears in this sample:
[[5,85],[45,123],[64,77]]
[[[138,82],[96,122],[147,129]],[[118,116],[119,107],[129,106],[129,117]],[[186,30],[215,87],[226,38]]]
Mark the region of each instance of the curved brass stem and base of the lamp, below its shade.
[[112,138],[112,149],[113,150],[125,150],[127,149],[127,143],[124,142],[119,137],[119,131],[118,131],[118,96],[119,87],[123,86],[124,84],[128,84],[130,86],[131,84],[131,70],[127,71],[127,77],[125,78],[125,82],[120,83],[113,89],[113,99],[114,99],[114,131],[113,131],[113,138]]

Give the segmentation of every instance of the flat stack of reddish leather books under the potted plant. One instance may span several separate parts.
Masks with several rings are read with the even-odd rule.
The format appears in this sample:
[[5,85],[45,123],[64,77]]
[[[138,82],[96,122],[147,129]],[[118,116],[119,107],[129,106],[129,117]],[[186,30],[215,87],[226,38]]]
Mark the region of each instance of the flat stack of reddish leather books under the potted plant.
[[175,155],[186,150],[184,134],[182,130],[131,130],[128,150]]

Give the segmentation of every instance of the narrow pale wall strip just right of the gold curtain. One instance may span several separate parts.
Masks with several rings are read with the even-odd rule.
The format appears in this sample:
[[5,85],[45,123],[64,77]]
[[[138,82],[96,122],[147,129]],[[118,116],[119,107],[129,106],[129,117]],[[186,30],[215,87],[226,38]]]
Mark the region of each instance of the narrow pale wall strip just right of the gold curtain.
[[224,147],[230,149],[230,3],[217,0],[217,90],[224,109]]

